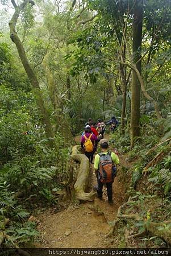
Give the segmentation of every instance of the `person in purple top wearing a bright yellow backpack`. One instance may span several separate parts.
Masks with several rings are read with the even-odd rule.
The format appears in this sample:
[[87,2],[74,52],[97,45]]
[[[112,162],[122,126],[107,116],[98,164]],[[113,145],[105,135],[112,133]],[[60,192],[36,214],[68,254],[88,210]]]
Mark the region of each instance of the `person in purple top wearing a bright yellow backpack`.
[[85,150],[85,155],[90,163],[93,163],[94,152],[97,150],[97,137],[92,133],[91,127],[85,129],[85,134],[81,137],[81,148]]

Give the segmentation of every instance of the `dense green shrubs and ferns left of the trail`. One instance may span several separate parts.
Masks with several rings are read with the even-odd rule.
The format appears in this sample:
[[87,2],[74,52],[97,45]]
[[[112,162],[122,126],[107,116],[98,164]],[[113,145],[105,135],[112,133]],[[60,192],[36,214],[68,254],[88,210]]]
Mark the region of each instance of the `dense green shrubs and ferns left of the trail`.
[[37,239],[28,218],[35,208],[57,204],[66,177],[69,149],[60,133],[49,147],[33,95],[0,87],[0,229],[7,247]]

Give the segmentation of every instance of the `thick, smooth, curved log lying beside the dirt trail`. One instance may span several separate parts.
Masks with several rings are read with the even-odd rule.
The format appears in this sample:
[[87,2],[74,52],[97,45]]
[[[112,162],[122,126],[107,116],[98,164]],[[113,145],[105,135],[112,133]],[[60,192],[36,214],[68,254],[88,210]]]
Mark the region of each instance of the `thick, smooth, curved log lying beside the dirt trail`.
[[90,163],[89,159],[84,154],[79,154],[78,150],[81,147],[76,145],[72,148],[72,156],[71,158],[80,163],[80,168],[78,171],[77,181],[74,184],[75,196],[76,199],[80,201],[93,201],[97,192],[91,191],[89,193],[85,192],[87,187],[87,183],[89,181],[90,175]]

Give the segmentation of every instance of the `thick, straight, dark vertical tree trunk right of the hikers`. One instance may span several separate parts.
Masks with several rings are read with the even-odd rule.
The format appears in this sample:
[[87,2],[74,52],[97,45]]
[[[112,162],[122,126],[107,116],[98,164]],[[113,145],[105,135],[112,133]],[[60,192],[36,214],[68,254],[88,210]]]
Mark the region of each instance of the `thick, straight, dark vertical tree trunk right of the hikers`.
[[[134,7],[134,21],[132,26],[132,54],[133,62],[141,57],[141,42],[142,42],[142,27],[143,27],[143,1],[140,0]],[[141,61],[136,64],[136,68],[141,74]],[[135,137],[140,136],[140,81],[135,71],[132,71],[131,85],[131,148],[134,146]]]

